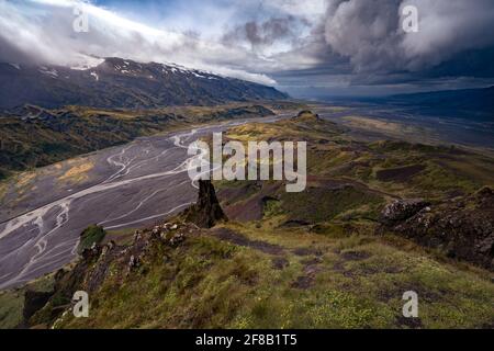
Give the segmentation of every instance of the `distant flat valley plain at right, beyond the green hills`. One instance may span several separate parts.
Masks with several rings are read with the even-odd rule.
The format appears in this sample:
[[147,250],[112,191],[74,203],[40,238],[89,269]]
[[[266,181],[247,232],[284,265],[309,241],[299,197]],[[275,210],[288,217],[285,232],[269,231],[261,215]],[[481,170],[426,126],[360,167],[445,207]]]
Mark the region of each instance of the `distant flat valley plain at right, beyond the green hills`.
[[405,139],[412,143],[452,144],[492,152],[494,123],[491,117],[440,112],[425,114],[422,106],[396,106],[384,103],[338,102],[311,106],[329,121],[347,125],[355,137],[366,140]]

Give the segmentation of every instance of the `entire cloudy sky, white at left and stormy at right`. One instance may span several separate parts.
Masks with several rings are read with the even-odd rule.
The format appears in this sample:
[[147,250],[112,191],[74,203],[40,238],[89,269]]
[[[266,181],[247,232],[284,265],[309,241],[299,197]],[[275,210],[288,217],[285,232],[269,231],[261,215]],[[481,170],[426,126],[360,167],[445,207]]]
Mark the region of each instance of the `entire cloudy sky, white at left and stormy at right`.
[[[403,29],[417,10],[417,31]],[[88,20],[76,32],[75,9]],[[494,84],[492,0],[0,0],[0,61],[117,56],[274,86],[295,98]]]

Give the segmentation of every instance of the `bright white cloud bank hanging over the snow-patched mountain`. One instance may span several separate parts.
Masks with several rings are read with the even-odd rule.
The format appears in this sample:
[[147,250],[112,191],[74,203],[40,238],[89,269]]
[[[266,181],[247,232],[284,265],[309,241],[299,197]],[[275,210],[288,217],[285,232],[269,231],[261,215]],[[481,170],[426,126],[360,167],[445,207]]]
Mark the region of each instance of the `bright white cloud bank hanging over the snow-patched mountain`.
[[[72,30],[76,5],[89,16],[89,33]],[[24,53],[40,63],[80,66],[81,54],[116,56],[176,63],[265,84],[276,83],[255,72],[257,67],[271,65],[259,56],[193,35],[155,29],[86,1],[0,0],[0,39],[12,47],[7,52]],[[1,55],[0,59],[8,59]]]

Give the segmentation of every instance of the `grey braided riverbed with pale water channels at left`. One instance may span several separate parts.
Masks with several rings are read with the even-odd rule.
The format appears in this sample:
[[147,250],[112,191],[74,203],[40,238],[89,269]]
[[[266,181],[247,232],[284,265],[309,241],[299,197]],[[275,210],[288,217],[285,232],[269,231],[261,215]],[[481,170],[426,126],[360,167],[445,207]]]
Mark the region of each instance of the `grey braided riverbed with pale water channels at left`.
[[0,288],[68,263],[76,257],[80,233],[91,224],[138,228],[193,203],[188,145],[238,123],[245,122],[142,137],[20,174],[2,196]]

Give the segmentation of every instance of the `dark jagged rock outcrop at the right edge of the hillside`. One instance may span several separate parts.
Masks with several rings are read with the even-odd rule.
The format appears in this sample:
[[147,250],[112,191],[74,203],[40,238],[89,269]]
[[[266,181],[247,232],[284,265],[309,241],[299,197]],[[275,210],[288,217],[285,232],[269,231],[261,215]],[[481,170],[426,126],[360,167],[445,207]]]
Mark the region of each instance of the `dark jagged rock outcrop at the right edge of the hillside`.
[[428,207],[424,202],[396,202],[382,214],[384,228],[450,258],[494,269],[494,192],[483,188],[473,195]]

